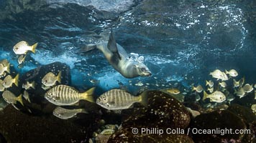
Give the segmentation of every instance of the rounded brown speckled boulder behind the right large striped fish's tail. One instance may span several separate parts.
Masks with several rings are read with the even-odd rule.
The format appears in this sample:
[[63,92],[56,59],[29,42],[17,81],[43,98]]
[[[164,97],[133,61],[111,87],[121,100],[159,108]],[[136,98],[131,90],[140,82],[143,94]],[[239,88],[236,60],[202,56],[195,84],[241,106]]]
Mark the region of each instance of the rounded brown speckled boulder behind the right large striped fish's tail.
[[188,126],[190,113],[177,99],[160,91],[149,91],[147,95],[147,108],[140,107],[123,112],[128,116],[124,117],[122,127],[145,126],[185,129]]

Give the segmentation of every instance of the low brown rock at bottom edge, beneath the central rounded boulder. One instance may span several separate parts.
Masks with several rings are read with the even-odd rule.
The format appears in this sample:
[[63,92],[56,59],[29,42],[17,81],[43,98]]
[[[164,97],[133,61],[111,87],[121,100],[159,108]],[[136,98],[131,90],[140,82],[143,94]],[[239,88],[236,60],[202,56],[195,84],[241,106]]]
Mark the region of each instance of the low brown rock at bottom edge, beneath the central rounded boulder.
[[186,134],[132,134],[132,127],[120,129],[115,134],[113,134],[108,143],[115,142],[186,142],[192,143],[191,137]]

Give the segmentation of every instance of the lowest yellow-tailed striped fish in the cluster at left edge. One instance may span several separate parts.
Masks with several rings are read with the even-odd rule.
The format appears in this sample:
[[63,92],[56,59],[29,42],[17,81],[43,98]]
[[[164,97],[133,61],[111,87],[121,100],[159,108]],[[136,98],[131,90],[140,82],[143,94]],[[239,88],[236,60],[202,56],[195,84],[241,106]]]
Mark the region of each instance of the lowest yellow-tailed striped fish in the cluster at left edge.
[[9,104],[16,104],[17,102],[19,102],[20,104],[22,104],[22,106],[24,106],[22,102],[22,94],[20,94],[19,97],[16,97],[12,92],[9,92],[8,90],[6,90],[4,91],[2,96],[4,100]]

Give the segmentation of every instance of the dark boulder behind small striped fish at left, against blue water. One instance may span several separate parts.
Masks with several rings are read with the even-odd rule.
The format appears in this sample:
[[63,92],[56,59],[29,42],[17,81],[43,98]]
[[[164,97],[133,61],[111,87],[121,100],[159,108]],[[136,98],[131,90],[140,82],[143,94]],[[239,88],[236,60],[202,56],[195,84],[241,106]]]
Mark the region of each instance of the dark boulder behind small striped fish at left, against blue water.
[[[27,110],[32,111],[33,114],[52,114],[55,105],[50,104],[44,97],[45,90],[42,89],[42,77],[48,72],[52,72],[57,75],[61,71],[61,84],[71,84],[70,66],[61,62],[54,62],[44,66],[38,66],[36,69],[27,71],[20,78],[20,84],[25,82],[34,82],[35,89],[27,89],[29,93],[30,103],[27,100],[23,100]],[[60,83],[58,83],[60,84]]]

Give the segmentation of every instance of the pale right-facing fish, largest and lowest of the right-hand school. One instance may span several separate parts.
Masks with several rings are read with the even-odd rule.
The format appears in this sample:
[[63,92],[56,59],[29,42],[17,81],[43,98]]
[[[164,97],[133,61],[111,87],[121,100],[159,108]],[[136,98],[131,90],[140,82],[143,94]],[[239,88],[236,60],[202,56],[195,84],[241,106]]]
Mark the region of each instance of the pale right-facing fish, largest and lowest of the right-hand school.
[[226,100],[225,95],[222,92],[216,91],[212,94],[207,94],[206,92],[204,92],[204,97],[203,100],[209,98],[210,102],[224,102]]

